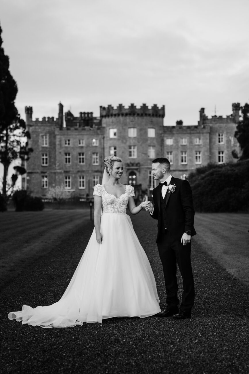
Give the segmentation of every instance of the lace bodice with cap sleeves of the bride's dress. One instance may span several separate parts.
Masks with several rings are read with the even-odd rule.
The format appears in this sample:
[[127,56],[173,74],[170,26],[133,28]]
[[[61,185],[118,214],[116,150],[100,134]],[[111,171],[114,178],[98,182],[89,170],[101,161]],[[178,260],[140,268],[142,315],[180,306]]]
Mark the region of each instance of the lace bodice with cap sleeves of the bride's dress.
[[93,195],[102,197],[102,211],[103,213],[117,213],[126,214],[126,207],[129,197],[134,197],[134,187],[125,186],[125,192],[116,197],[105,190],[101,184],[96,184],[94,187]]

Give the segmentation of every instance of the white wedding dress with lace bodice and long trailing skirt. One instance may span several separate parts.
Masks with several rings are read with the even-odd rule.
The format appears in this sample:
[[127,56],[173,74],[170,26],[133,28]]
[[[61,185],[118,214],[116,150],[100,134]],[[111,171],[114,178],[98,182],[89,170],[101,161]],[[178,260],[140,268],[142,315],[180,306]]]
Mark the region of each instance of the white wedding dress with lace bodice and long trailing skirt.
[[160,312],[154,275],[133,230],[126,207],[134,188],[126,186],[119,198],[97,184],[93,194],[102,196],[100,230],[95,230],[64,295],[49,306],[24,305],[9,319],[41,327],[73,327],[83,322],[102,322],[111,317],[140,318]]

